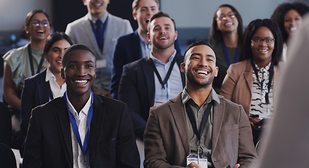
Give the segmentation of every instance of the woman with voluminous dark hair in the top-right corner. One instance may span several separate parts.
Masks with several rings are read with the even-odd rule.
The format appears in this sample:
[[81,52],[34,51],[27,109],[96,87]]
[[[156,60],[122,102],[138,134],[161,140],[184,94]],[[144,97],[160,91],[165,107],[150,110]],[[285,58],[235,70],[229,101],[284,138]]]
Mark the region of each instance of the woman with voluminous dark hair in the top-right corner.
[[309,12],[309,6],[305,3],[294,2],[294,3],[282,3],[274,10],[270,20],[277,22],[280,27],[283,50],[282,50],[282,61],[287,60],[287,40],[289,36],[293,35],[297,28],[303,22],[303,15]]

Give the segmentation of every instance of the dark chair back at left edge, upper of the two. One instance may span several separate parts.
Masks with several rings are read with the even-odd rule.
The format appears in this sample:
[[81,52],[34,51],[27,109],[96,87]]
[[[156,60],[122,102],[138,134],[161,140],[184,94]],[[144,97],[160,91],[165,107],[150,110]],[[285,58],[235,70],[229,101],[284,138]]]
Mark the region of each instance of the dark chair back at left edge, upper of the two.
[[0,102],[0,142],[11,146],[11,134],[11,112],[6,104]]

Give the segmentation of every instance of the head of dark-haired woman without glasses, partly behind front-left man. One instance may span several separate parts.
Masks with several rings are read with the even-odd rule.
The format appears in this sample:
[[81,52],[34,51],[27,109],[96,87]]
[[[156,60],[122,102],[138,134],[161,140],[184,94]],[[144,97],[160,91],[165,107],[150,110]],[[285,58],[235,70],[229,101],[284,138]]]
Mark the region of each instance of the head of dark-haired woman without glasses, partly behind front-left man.
[[61,64],[61,57],[63,56],[65,49],[68,47],[70,47],[70,43],[65,39],[62,39],[53,43],[53,45],[51,45],[51,49],[44,54],[45,59],[49,62],[49,69],[53,74],[61,72],[63,67]]

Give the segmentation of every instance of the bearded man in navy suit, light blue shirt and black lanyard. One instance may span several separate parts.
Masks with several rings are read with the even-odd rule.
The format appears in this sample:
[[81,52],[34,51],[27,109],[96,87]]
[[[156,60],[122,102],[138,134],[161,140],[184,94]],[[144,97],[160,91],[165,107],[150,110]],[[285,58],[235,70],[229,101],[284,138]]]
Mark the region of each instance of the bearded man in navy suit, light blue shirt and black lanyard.
[[[177,31],[169,15],[162,12],[153,15],[147,36],[152,43],[150,55],[124,66],[118,97],[128,104],[136,137],[142,140],[150,107],[166,102],[185,86],[185,76],[180,72],[183,56],[176,54]],[[167,77],[166,83],[159,83],[155,71],[162,82]]]

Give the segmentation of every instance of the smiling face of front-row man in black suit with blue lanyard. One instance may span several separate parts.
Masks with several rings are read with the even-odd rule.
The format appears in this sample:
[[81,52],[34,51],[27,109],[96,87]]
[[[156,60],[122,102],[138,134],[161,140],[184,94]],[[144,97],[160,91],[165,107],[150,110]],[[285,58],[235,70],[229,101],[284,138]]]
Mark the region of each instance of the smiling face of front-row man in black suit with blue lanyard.
[[96,58],[87,50],[72,50],[63,60],[61,76],[67,83],[67,94],[90,95],[96,79]]

